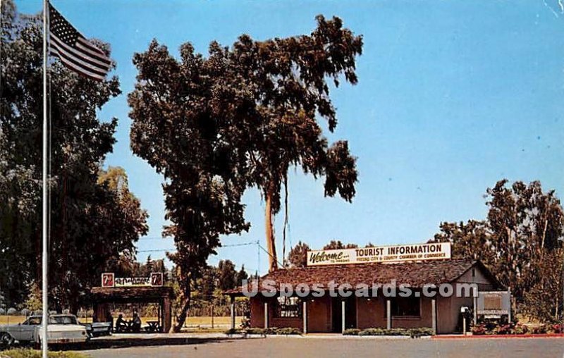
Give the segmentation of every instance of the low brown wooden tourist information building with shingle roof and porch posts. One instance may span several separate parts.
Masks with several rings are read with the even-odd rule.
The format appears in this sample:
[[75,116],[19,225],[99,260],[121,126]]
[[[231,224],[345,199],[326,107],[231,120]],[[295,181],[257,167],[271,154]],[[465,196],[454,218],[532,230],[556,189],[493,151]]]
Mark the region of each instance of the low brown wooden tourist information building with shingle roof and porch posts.
[[[477,299],[473,292],[468,297],[458,297],[457,292],[449,297],[436,292],[434,297],[424,297],[426,285],[437,288],[448,284],[454,291],[475,284],[479,291],[504,290],[498,280],[480,261],[462,259],[441,259],[429,261],[405,261],[396,263],[332,264],[326,266],[307,266],[295,269],[278,269],[263,276],[258,283],[274,283],[276,291],[281,285],[297,288],[305,284],[311,290],[314,285],[324,288],[324,295],[314,297],[266,297],[259,292],[250,298],[251,326],[294,327],[304,333],[341,333],[346,328],[433,328],[435,333],[455,333],[462,331],[460,309],[469,307],[476,311]],[[353,288],[358,284],[381,285],[376,297],[357,297],[355,291],[343,297],[329,295],[329,285],[343,283]],[[412,290],[409,297],[386,297],[384,287],[395,283],[408,285]],[[252,285],[245,288],[252,291]],[[463,292],[461,292],[463,293]],[[243,288],[226,292],[233,297],[243,295]],[[232,326],[234,326],[232,319]]]

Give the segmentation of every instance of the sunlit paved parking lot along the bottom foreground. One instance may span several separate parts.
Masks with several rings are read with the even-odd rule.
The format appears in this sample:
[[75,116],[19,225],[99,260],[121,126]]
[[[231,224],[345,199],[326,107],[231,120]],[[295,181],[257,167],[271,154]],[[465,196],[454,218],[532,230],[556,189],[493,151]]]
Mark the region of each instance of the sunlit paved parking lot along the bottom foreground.
[[[94,343],[94,342],[92,342]],[[564,338],[502,339],[371,339],[174,338],[114,342],[87,350],[92,357],[563,357]],[[160,345],[164,344],[164,345]]]

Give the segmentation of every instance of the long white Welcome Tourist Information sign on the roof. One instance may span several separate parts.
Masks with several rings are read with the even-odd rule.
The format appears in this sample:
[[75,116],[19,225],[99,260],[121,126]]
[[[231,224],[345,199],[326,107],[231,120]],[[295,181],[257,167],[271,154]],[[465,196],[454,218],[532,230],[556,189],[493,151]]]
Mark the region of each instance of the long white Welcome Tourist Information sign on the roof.
[[450,259],[450,242],[307,252],[307,266]]

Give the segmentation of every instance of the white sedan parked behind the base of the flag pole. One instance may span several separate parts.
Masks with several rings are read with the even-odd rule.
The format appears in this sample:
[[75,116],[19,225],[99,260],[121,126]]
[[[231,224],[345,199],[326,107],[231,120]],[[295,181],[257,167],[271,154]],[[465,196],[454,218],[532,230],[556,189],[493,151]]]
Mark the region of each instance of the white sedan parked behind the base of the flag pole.
[[[0,347],[6,348],[19,343],[21,345],[39,344],[43,327],[42,316],[30,316],[23,323],[0,326]],[[49,316],[47,325],[48,344],[82,343],[89,339],[86,327],[78,323],[72,314]]]

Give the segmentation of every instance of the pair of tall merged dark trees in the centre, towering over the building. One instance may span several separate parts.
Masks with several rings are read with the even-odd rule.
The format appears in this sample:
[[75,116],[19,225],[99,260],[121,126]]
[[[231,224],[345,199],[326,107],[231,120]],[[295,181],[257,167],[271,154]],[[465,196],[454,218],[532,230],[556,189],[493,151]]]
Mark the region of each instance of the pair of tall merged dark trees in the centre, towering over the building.
[[209,56],[191,44],[180,61],[157,41],[135,54],[135,90],[129,95],[131,147],[166,179],[166,218],[177,252],[185,304],[190,282],[200,276],[219,235],[248,230],[241,196],[258,187],[266,202],[271,269],[276,267],[272,216],[280,209],[281,183],[289,166],[325,176],[325,194],[351,200],[357,181],[348,143],[329,146],[316,115],[336,127],[326,78],[355,84],[355,57],[362,38],[338,18],[317,17],[311,35],[255,41],[239,37],[233,47],[212,42]]

